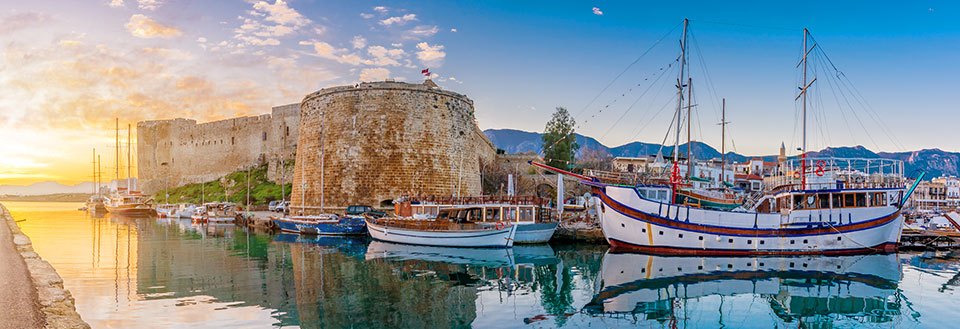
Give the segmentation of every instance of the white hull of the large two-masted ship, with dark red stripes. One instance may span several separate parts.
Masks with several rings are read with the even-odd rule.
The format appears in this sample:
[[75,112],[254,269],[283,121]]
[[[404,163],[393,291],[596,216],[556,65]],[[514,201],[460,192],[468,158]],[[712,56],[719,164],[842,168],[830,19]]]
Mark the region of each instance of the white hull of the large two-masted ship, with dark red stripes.
[[891,252],[903,223],[894,206],[759,214],[663,204],[628,187],[604,189],[601,228],[615,249],[687,255]]

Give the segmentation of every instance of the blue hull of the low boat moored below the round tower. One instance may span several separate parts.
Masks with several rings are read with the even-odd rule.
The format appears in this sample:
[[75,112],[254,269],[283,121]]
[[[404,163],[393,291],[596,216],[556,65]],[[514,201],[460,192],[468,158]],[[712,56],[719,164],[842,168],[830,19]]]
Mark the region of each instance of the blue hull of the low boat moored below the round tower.
[[311,235],[363,235],[367,233],[363,217],[340,217],[333,214],[290,216],[273,219],[283,232]]

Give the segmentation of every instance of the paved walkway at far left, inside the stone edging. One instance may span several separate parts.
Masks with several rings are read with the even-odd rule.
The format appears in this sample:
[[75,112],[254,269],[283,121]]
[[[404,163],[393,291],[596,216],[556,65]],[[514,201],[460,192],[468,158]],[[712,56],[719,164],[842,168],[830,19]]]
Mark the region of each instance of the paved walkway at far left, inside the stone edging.
[[40,328],[44,321],[37,289],[13,242],[8,214],[0,209],[0,216],[0,329]]

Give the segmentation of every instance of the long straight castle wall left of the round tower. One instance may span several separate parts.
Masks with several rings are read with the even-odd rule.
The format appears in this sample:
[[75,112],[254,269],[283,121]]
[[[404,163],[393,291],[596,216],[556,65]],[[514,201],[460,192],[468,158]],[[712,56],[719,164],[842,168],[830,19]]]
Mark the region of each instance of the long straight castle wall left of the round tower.
[[[137,123],[140,189],[216,180],[250,166],[279,162],[296,150],[299,105],[274,107],[271,114],[197,124],[173,119]],[[274,168],[271,179],[281,176]]]

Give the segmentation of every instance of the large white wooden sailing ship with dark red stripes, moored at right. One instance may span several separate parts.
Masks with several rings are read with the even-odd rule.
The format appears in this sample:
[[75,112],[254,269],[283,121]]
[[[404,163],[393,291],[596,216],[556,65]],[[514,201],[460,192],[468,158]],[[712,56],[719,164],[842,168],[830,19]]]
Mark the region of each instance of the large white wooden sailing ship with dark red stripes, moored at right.
[[802,153],[785,164],[786,170],[768,177],[772,187],[749,211],[663,202],[644,197],[636,187],[575,176],[600,199],[601,228],[614,250],[730,256],[897,250],[901,211],[924,174],[907,189],[902,161],[870,159],[863,164],[858,159],[807,156],[807,92],[816,80],[807,77],[807,57],[814,50],[809,35],[804,29],[803,84],[797,96],[802,99]]

